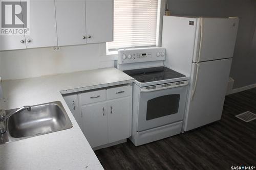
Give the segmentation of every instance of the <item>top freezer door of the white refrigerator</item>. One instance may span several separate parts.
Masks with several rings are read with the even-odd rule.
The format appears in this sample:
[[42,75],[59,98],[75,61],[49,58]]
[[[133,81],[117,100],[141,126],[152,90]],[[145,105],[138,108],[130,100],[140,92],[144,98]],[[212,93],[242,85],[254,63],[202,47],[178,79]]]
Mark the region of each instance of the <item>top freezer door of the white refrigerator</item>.
[[232,58],[239,18],[200,18],[199,40],[194,62]]

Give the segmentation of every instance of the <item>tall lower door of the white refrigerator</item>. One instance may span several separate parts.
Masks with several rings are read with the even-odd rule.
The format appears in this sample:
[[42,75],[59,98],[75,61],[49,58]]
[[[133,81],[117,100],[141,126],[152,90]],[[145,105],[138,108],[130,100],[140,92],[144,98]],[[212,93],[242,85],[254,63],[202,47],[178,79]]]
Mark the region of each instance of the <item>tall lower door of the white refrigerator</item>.
[[193,63],[185,131],[221,119],[232,59]]

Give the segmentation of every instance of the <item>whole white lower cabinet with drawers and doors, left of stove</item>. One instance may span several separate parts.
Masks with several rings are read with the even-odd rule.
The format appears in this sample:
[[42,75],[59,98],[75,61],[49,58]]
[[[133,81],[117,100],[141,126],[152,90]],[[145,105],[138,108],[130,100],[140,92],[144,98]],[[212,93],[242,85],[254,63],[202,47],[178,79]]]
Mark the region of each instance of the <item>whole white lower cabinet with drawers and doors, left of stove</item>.
[[132,91],[124,85],[63,96],[92,148],[132,135]]

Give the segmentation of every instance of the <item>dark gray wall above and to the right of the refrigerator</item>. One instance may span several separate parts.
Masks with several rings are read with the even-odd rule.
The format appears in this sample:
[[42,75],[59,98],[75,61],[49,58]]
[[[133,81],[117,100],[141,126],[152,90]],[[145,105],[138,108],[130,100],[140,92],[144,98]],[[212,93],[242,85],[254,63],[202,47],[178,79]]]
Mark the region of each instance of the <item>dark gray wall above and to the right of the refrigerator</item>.
[[167,0],[172,15],[241,18],[230,72],[233,88],[256,83],[256,0]]

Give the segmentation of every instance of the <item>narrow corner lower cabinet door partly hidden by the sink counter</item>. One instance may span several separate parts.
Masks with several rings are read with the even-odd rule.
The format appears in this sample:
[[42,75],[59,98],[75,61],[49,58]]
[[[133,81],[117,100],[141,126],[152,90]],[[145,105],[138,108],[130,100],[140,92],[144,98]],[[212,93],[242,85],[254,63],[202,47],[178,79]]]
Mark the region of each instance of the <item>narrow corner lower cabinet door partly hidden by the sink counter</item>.
[[78,103],[78,95],[77,94],[72,94],[72,95],[66,95],[63,96],[65,102],[67,103],[71,113],[76,119],[77,124],[79,125],[80,129],[82,128],[82,114],[81,114],[81,109],[79,108],[79,103]]

